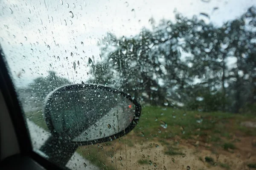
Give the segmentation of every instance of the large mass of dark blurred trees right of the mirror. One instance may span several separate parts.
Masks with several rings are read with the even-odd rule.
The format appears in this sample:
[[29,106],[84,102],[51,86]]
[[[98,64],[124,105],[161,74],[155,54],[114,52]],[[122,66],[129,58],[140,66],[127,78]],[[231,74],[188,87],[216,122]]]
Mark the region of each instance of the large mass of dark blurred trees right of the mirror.
[[133,37],[109,33],[91,82],[144,96],[151,104],[175,100],[190,106],[201,97],[205,110],[239,112],[256,100],[255,11],[251,7],[221,27],[176,12],[175,22],[156,26],[151,18],[152,28]]

